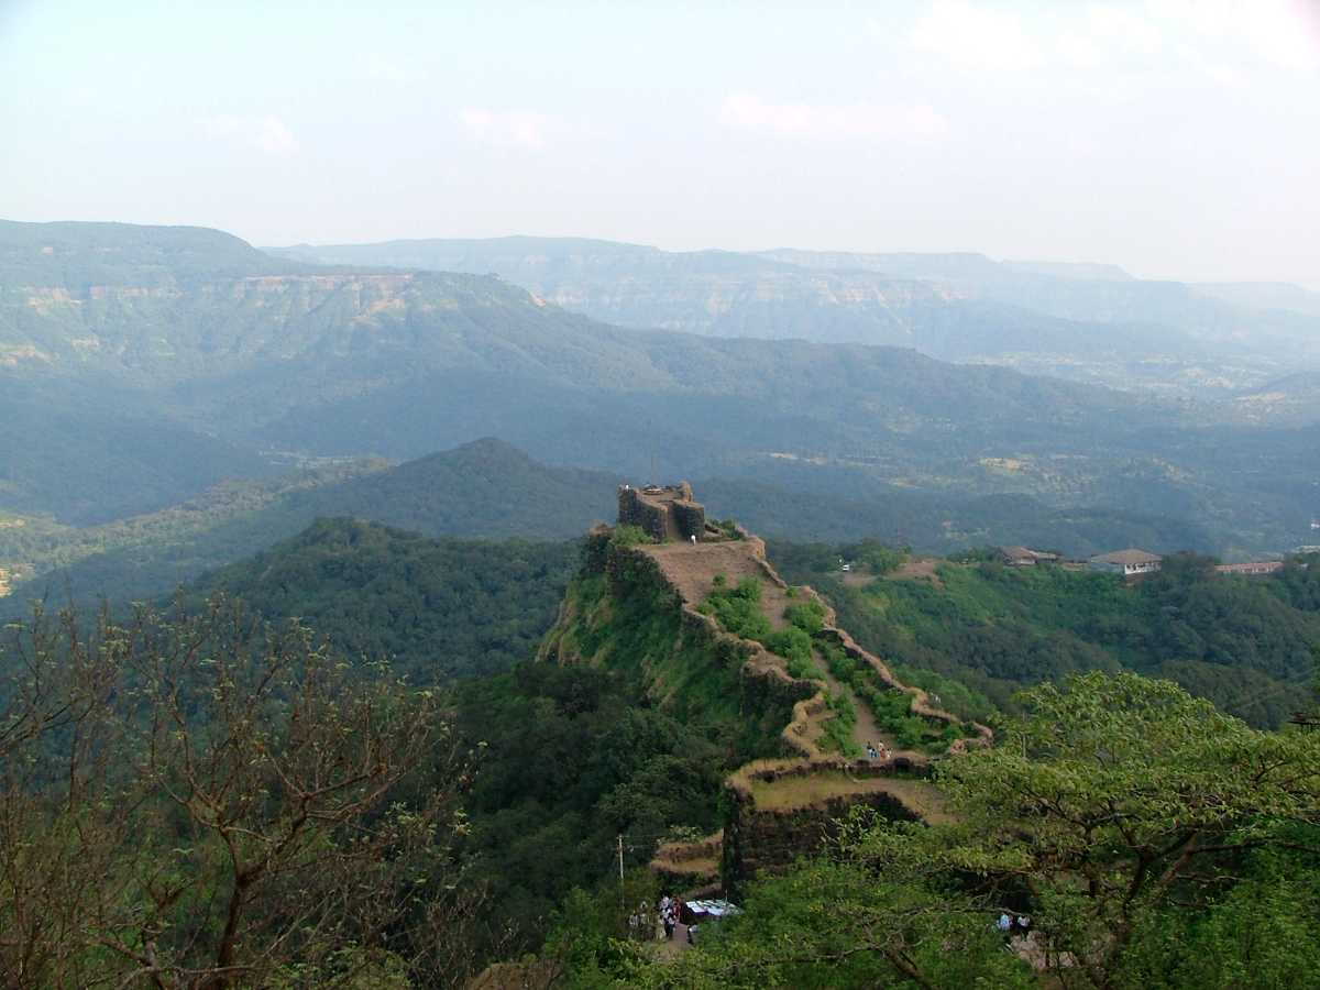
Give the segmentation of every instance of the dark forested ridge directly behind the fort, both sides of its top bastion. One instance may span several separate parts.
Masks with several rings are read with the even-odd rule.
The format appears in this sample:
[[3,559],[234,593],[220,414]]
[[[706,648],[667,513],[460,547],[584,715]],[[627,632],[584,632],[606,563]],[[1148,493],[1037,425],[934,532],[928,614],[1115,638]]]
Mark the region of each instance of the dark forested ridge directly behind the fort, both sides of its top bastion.
[[[1210,550],[1208,531],[1171,517],[1105,510],[1051,510],[1028,496],[931,498],[849,474],[804,478],[776,466],[777,484],[698,480],[715,516],[788,540],[879,539],[925,553],[987,541],[1092,554],[1114,543]],[[321,463],[263,482],[226,482],[168,510],[75,528],[11,516],[0,527],[0,568],[12,594],[0,615],[32,598],[150,599],[202,572],[265,550],[318,516],[352,516],[430,536],[565,540],[612,517],[620,478],[549,467],[498,440],[389,466]],[[808,486],[814,491],[795,490]]]

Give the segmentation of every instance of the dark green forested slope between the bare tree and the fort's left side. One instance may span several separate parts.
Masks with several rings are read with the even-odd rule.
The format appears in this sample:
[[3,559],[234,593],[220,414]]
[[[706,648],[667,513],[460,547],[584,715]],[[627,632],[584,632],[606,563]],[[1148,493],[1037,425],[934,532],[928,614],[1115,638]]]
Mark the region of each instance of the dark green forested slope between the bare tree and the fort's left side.
[[[459,843],[480,892],[480,921],[462,936],[477,952],[540,948],[572,888],[615,869],[620,830],[630,867],[663,838],[710,832],[725,771],[775,751],[777,725],[747,725],[729,698],[657,705],[660,682],[640,663],[535,660],[558,610],[581,601],[581,552],[578,540],[434,540],[318,520],[181,599],[202,612],[223,594],[276,628],[297,616],[364,677],[449,688],[457,738],[479,754]],[[642,595],[618,605],[622,659],[676,648],[673,614]]]

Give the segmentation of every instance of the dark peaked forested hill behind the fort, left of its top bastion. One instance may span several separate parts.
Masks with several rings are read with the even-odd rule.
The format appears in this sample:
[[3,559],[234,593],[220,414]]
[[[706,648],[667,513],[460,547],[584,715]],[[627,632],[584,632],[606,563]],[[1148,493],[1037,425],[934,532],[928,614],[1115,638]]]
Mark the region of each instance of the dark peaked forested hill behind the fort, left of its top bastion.
[[428,536],[568,540],[612,515],[614,486],[607,474],[546,467],[482,440],[396,467],[331,465],[263,484],[230,483],[164,512],[88,529],[13,519],[0,528],[0,566],[15,582],[0,614],[22,614],[29,598],[48,594],[156,598],[319,516]]

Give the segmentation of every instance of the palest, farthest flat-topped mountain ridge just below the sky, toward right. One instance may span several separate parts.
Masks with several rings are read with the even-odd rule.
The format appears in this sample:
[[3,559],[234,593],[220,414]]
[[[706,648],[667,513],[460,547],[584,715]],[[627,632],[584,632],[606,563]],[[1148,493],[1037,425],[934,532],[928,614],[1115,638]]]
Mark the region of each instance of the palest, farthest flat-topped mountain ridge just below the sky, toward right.
[[1320,312],[1142,281],[1117,265],[994,261],[973,252],[665,252],[527,236],[268,251],[301,261],[496,273],[622,326],[912,346],[941,360],[1008,363],[1118,387],[1217,393],[1261,384],[1299,358],[1320,367]]

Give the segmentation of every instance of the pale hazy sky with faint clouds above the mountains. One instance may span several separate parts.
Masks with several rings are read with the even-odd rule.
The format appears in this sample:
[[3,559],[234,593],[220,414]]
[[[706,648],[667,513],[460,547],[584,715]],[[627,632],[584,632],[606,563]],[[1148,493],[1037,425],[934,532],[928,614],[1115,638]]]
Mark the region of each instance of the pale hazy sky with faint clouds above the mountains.
[[1320,0],[0,0],[0,216],[1320,289]]

